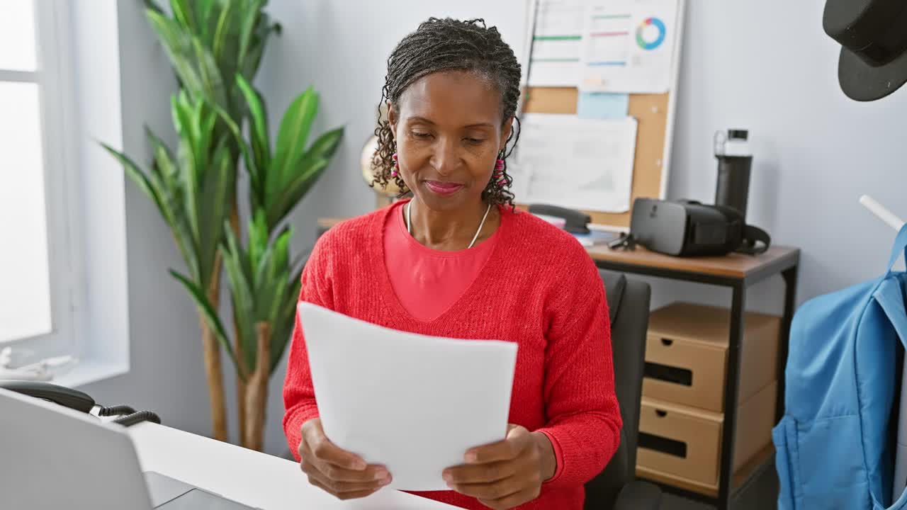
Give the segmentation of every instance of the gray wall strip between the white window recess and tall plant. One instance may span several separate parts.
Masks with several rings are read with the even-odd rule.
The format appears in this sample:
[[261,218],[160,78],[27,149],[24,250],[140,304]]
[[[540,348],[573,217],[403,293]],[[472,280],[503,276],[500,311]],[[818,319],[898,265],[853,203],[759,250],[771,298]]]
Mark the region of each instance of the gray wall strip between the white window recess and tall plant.
[[[89,4],[83,0],[73,9],[91,8]],[[166,141],[174,139],[169,105],[176,83],[141,2],[117,6],[122,145],[136,162],[147,164],[150,152],[143,126]],[[153,409],[171,427],[210,435],[198,322],[189,297],[167,274],[169,268],[183,267],[179,251],[158,211],[132,182],[126,183],[125,205],[131,369],[82,389],[104,405]]]

